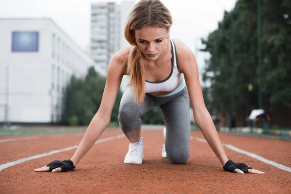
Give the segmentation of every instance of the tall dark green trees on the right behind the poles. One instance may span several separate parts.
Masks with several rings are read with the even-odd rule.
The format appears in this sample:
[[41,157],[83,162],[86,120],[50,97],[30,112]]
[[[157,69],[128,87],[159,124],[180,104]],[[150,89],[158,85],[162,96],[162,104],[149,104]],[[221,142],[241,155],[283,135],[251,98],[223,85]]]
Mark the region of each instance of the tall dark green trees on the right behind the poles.
[[[225,12],[218,28],[206,39],[203,51],[210,59],[203,74],[210,81],[210,98],[220,113],[230,112],[231,99],[231,22],[234,25],[235,105],[237,115],[247,105],[258,108],[258,23],[257,0],[238,0]],[[291,1],[261,0],[262,94],[263,108],[291,107]],[[249,85],[252,90],[249,91]]]

